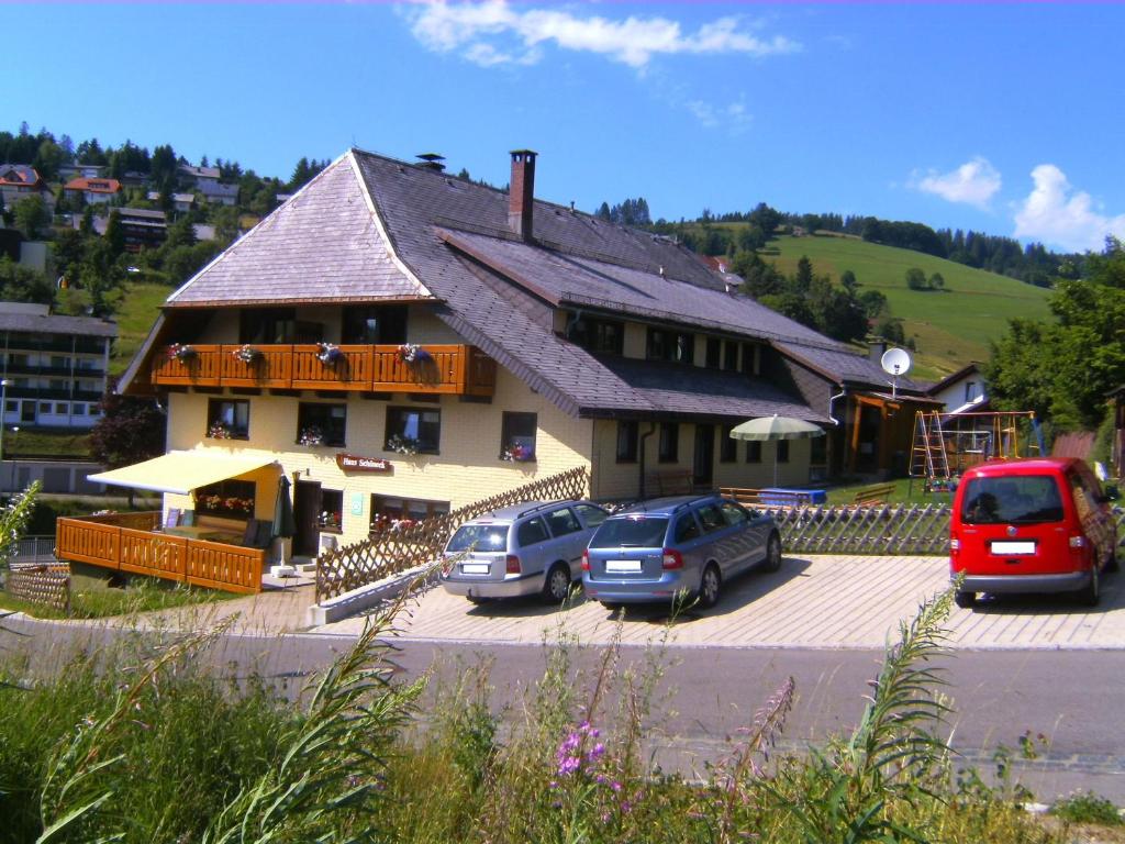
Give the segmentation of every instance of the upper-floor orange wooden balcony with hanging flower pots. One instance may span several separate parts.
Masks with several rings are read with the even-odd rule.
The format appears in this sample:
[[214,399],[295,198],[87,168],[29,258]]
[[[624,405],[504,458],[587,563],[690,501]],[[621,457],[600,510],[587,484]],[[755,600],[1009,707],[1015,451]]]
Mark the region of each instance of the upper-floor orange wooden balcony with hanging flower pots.
[[357,393],[448,393],[490,396],[496,361],[475,345],[423,345],[423,360],[406,362],[397,345],[341,345],[333,362],[314,344],[255,345],[246,362],[241,345],[192,345],[187,358],[160,354],[152,383],[160,386],[339,389]]

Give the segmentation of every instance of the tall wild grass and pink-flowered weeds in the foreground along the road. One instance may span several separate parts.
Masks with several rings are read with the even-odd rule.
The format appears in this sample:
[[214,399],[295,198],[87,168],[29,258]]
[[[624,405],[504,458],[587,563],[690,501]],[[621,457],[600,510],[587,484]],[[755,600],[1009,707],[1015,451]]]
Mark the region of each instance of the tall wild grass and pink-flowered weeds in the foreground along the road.
[[957,769],[940,738],[951,593],[902,625],[854,731],[775,754],[790,680],[692,778],[647,755],[666,725],[670,628],[628,661],[623,620],[596,650],[560,631],[542,676],[500,692],[488,663],[406,683],[388,644],[405,601],[296,706],[244,667],[237,681],[206,671],[226,664],[224,628],[58,653],[50,672],[6,647],[0,841],[1073,839],[1028,815],[1011,782]]

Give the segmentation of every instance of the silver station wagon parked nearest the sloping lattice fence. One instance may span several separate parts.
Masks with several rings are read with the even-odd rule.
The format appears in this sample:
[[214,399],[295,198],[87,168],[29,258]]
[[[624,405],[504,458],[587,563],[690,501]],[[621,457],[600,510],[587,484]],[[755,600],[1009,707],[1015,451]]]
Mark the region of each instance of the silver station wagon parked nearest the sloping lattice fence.
[[470,519],[450,538],[441,585],[478,602],[542,595],[561,603],[582,551],[609,515],[588,501],[528,502]]

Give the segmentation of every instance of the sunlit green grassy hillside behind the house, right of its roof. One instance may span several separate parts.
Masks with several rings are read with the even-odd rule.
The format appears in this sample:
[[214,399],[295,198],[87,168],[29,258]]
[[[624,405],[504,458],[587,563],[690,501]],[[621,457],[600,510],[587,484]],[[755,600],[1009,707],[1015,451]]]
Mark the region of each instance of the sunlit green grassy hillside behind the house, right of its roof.
[[[987,360],[988,341],[999,338],[1012,317],[1050,316],[1050,290],[858,237],[783,235],[760,254],[785,275],[795,272],[801,255],[808,255],[818,275],[838,279],[844,270],[852,270],[861,291],[881,291],[891,315],[901,317],[906,335],[917,343],[912,375],[919,378],[938,378],[972,360]],[[906,272],[911,267],[921,269],[927,278],[942,273],[944,289],[909,289]]]

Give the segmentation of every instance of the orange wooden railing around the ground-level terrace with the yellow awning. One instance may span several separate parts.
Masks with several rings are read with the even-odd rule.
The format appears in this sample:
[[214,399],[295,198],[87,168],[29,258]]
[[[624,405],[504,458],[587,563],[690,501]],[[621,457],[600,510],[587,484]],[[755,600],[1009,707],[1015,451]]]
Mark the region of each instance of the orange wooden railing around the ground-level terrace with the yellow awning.
[[262,591],[264,550],[164,533],[159,526],[160,512],[58,519],[55,556],[226,592]]

